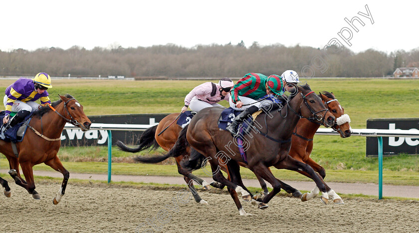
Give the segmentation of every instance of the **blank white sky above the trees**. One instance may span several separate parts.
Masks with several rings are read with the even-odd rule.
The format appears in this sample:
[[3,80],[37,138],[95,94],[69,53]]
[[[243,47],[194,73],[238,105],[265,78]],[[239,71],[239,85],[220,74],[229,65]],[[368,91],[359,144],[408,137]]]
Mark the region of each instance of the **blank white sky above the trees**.
[[[281,43],[323,48],[332,38],[355,52],[419,47],[419,1],[281,0],[23,0],[0,3],[0,49],[92,49],[174,43],[260,45]],[[371,20],[358,14],[367,13]],[[345,22],[358,16],[356,32]],[[338,32],[353,33],[348,46]],[[399,35],[397,35],[399,34]],[[349,36],[349,32],[343,32]]]

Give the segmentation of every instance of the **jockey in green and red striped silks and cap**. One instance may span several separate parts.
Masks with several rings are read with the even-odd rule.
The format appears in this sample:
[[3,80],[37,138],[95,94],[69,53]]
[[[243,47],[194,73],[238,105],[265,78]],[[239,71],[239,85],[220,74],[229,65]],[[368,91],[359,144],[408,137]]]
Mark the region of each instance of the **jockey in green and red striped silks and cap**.
[[236,116],[234,121],[226,129],[231,134],[236,135],[237,125],[248,115],[272,103],[268,99],[257,102],[257,99],[270,94],[282,95],[283,86],[282,78],[276,74],[272,74],[269,77],[259,73],[248,73],[244,75],[231,89],[229,98],[230,107],[243,112]]

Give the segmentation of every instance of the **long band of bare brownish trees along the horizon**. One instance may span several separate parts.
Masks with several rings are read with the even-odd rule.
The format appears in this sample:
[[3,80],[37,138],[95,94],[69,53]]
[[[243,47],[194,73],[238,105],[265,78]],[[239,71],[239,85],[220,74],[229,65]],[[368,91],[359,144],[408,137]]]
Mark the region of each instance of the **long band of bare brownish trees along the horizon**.
[[419,66],[419,48],[390,54],[374,49],[354,53],[346,47],[259,46],[257,42],[245,47],[240,42],[192,48],[166,44],[0,50],[0,76],[47,72],[63,77],[241,77],[249,72],[269,75],[293,69],[305,77],[383,77],[409,66]]

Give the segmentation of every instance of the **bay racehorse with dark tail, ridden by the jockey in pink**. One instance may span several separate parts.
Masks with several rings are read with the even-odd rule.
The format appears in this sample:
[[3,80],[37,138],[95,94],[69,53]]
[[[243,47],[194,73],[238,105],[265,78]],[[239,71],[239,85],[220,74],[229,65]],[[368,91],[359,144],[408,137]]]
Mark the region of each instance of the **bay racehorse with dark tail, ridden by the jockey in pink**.
[[[173,147],[173,145],[175,145],[176,141],[178,140],[179,132],[182,130],[181,126],[177,125],[175,122],[178,119],[179,115],[180,113],[172,113],[164,117],[158,125],[150,127],[146,131],[144,131],[144,133],[140,137],[140,145],[136,148],[130,148],[121,141],[117,141],[116,145],[122,151],[131,153],[140,152],[146,149],[153,150],[157,149],[159,146],[162,147],[165,151],[169,151]],[[176,165],[178,166],[178,172],[179,174],[184,176],[184,180],[188,184],[188,187],[191,190],[195,198],[195,201],[201,204],[208,204],[198,195],[198,192],[196,191],[194,186],[194,181],[199,185],[203,186],[205,190],[210,189],[210,185],[217,188],[223,188],[223,186],[221,187],[221,184],[219,184],[218,182],[212,182],[211,184],[208,184],[203,179],[192,174],[191,170],[186,170],[183,166],[181,166],[181,162],[184,159],[188,159],[187,155],[189,155],[189,148],[187,149],[184,155],[175,158]],[[159,163],[167,158],[169,157],[154,156],[146,158],[138,156],[135,158],[135,160],[143,163]],[[200,161],[197,161],[197,163],[199,163],[198,167],[200,168]]]

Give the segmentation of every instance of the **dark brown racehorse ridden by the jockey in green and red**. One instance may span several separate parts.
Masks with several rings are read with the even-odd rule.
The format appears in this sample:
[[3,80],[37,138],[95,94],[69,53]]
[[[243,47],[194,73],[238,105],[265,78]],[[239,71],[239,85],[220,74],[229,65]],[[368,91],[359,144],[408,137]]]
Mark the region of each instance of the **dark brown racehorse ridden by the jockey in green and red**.
[[[293,159],[288,155],[291,148],[292,132],[300,118],[308,118],[315,122],[322,123],[326,127],[334,125],[335,117],[325,108],[321,98],[311,91],[309,85],[294,86],[290,91],[293,95],[281,110],[276,113],[272,108],[269,112],[261,113],[255,122],[260,126],[260,130],[251,136],[245,137],[248,144],[247,148],[247,166],[248,168],[268,181],[273,190],[264,198],[256,198],[262,204],[266,204],[274,197],[284,183],[276,179],[270,170],[270,166],[277,169],[288,169],[293,171],[301,171],[306,173],[314,180],[317,187],[323,193],[326,193],[326,187],[314,170],[305,163]],[[168,156],[176,157],[184,153],[188,145],[181,145],[187,141],[189,145],[203,154],[210,162],[212,170],[212,178],[223,185],[226,185],[228,192],[234,200],[240,215],[247,215],[243,210],[237,197],[237,192],[241,193],[242,198],[251,201],[250,192],[244,187],[240,173],[238,162],[245,163],[237,148],[229,148],[232,140],[231,134],[227,131],[218,129],[218,116],[222,112],[222,108],[212,107],[201,110],[188,127],[184,128],[186,140],[179,136],[177,144],[169,151]],[[321,114],[324,112],[324,114]],[[270,114],[264,117],[263,114]],[[263,122],[264,119],[264,122]],[[266,133],[265,133],[266,132]],[[228,148],[228,152],[224,150]],[[231,181],[219,172],[219,165],[226,165],[229,178]],[[327,195],[327,194],[326,194]]]

